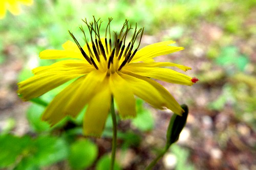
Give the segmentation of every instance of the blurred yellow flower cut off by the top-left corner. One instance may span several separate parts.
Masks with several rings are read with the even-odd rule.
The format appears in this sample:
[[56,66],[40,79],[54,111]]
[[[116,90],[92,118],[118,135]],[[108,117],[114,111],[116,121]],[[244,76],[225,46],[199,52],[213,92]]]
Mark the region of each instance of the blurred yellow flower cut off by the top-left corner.
[[32,5],[33,0],[1,0],[0,1],[0,19],[5,17],[6,10],[9,10],[13,15],[20,14],[19,4],[27,6]]

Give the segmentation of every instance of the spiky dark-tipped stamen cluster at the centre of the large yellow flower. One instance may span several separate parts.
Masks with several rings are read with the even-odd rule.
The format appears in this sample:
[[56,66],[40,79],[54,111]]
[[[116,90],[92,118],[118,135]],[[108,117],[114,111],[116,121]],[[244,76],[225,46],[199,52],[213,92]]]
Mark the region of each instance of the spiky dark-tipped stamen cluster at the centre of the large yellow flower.
[[[120,71],[125,64],[129,63],[136,52],[138,51],[138,47],[141,42],[141,38],[143,35],[144,28],[137,30],[137,23],[132,35],[131,40],[128,44],[125,44],[126,37],[132,27],[129,26],[127,20],[125,20],[122,29],[119,34],[115,32],[115,43],[112,44],[111,40],[111,31],[110,31],[110,23],[113,18],[109,18],[108,25],[105,29],[105,38],[100,37],[100,26],[102,21],[99,19],[94,21],[87,22],[87,20],[83,20],[86,23],[88,30],[90,32],[91,43],[88,43],[86,33],[83,28],[80,27],[84,35],[84,39],[86,40],[86,47],[82,48],[75,36],[69,31],[71,37],[74,39],[77,44],[81,54],[83,57],[93,65],[96,69],[106,71],[107,75],[113,74],[114,72]],[[109,38],[107,35],[109,34]],[[136,49],[133,51],[135,41],[137,37],[140,35],[140,41]]]

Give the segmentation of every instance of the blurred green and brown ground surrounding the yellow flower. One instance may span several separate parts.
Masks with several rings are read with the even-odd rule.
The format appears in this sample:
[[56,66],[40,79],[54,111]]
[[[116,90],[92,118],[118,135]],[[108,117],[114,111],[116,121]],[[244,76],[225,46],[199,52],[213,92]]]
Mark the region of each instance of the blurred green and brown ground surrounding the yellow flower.
[[[23,102],[17,82],[31,69],[54,61],[39,52],[83,35],[81,19],[113,17],[112,30],[125,19],[144,27],[141,47],[175,40],[185,50],[156,58],[193,69],[194,86],[166,87],[189,116],[179,141],[154,169],[256,169],[256,2],[254,0],[34,0],[0,20],[0,169],[106,169],[111,154],[111,119],[101,138],[82,136],[82,113],[50,128],[41,122],[45,106],[58,93]],[[103,22],[103,23],[104,23]],[[80,37],[79,37],[80,36]],[[64,85],[65,86],[65,85]],[[84,111],[83,111],[84,112]],[[172,112],[137,100],[137,118],[119,120],[116,169],[144,169],[165,144]]]

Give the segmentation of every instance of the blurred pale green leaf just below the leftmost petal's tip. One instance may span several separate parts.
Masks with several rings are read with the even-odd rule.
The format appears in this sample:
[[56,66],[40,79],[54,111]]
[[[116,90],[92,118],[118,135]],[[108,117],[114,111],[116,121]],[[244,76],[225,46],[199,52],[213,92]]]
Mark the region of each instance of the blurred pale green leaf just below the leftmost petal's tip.
[[41,120],[42,112],[45,107],[41,105],[32,104],[27,111],[27,118],[31,128],[36,132],[49,131],[50,125],[47,122]]

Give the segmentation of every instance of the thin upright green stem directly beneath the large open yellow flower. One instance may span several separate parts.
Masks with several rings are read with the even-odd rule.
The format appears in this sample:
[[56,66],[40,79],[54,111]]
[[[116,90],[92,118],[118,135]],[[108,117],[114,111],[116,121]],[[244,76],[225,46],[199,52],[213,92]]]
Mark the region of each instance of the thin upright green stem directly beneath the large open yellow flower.
[[111,154],[111,170],[114,169],[115,158],[116,158],[116,141],[117,141],[117,123],[116,123],[116,113],[114,107],[114,99],[112,96],[111,99],[111,117],[112,117],[112,124],[113,124],[113,138],[112,138],[112,154]]

